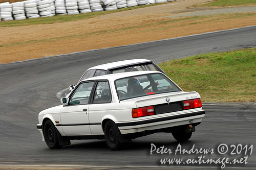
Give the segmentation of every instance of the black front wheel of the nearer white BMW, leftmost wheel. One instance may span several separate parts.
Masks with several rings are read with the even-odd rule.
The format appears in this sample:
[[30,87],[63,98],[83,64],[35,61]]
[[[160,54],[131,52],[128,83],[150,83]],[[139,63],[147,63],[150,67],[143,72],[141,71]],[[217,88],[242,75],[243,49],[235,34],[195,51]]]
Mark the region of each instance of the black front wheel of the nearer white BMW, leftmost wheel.
[[59,145],[58,132],[51,120],[46,120],[44,130],[42,132],[44,133],[45,141],[49,148],[59,149],[62,147]]

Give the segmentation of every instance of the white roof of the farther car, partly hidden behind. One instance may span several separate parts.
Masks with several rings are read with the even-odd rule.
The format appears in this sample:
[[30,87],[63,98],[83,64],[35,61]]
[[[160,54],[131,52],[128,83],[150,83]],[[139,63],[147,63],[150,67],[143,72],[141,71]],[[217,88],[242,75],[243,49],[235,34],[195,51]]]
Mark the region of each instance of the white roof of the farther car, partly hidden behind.
[[104,69],[104,70],[108,70],[108,69],[113,69],[113,68],[117,68],[117,67],[122,67],[122,66],[125,66],[125,65],[144,63],[144,62],[151,62],[151,60],[133,59],[133,60],[116,61],[116,62],[112,62],[112,63],[106,63],[106,64],[97,65],[97,66],[91,67],[89,69]]

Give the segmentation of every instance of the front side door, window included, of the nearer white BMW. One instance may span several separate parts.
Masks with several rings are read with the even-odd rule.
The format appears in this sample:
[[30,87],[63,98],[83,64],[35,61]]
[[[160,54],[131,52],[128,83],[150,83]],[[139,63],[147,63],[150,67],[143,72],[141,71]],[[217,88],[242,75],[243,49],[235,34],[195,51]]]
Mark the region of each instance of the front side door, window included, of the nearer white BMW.
[[80,83],[69,104],[61,109],[61,127],[66,135],[91,134],[88,109],[94,84],[94,81]]

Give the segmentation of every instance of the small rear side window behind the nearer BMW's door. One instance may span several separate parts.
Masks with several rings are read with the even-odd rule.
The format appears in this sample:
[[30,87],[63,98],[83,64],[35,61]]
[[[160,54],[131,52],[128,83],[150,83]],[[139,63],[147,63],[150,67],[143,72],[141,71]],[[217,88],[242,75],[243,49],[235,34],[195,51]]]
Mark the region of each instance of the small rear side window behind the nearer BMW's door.
[[97,83],[94,92],[93,104],[99,103],[111,103],[111,91],[109,82],[107,81],[99,81]]

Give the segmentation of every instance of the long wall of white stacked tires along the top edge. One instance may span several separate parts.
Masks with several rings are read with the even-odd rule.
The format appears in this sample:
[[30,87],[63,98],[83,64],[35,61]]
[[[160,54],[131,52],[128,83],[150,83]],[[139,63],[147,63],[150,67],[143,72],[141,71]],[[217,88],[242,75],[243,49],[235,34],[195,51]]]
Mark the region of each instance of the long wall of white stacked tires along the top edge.
[[[100,12],[138,5],[165,3],[177,0],[28,0],[0,4],[1,20],[21,20],[67,14]],[[103,7],[103,8],[102,8]]]

